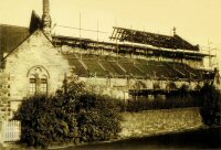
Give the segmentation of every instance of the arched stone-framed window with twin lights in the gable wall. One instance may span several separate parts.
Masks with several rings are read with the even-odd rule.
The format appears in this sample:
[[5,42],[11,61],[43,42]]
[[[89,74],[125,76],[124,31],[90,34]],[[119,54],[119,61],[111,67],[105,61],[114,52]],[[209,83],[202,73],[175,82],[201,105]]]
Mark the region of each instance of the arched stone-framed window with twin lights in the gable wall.
[[29,73],[29,95],[46,95],[49,74],[42,66],[32,67]]

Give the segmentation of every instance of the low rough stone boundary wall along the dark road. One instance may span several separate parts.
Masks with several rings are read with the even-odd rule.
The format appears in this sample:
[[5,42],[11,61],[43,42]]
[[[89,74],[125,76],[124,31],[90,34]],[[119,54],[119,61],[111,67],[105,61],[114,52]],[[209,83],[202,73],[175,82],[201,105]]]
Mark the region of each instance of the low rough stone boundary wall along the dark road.
[[123,113],[120,138],[152,136],[202,127],[199,108]]

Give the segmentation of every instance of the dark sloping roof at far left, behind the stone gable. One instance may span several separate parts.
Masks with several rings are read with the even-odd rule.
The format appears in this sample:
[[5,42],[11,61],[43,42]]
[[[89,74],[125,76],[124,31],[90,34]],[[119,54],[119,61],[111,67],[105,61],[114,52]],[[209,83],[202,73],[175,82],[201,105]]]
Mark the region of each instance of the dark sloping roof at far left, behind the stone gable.
[[29,28],[0,24],[0,60],[30,35]]

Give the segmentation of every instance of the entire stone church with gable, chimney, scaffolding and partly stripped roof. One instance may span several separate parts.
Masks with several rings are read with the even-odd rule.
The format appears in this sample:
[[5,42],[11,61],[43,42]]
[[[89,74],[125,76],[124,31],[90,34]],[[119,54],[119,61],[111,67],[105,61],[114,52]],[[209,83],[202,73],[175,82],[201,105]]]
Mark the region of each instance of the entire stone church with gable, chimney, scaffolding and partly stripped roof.
[[32,12],[29,28],[0,24],[0,119],[28,96],[54,94],[65,76],[124,100],[164,96],[183,85],[199,90],[218,78],[217,69],[201,68],[211,55],[176,30],[168,36],[115,26],[110,40],[51,34],[49,0],[42,18]]

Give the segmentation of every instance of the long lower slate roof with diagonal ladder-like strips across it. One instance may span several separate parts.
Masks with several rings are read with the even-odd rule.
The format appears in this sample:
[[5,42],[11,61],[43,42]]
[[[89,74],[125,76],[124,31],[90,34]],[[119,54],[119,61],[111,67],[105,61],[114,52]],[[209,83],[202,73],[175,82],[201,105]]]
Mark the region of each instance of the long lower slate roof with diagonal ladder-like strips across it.
[[134,77],[201,81],[211,79],[211,72],[177,62],[148,61],[95,54],[64,54],[73,72],[81,77]]

